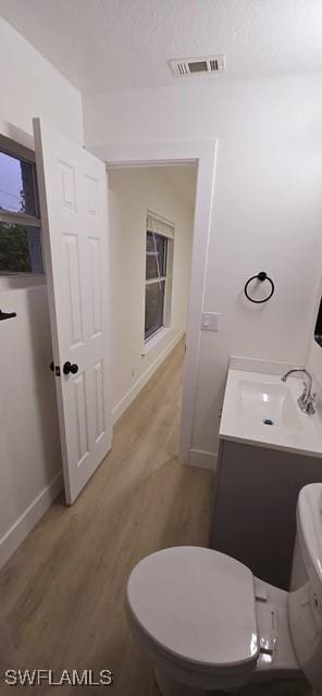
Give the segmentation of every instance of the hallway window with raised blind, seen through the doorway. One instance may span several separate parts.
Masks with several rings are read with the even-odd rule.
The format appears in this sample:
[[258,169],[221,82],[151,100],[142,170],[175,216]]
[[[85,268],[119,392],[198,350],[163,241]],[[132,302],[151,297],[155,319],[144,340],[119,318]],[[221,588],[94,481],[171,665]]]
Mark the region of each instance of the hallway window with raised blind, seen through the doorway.
[[[166,233],[166,234],[161,234]],[[173,239],[173,227],[148,214],[146,241],[146,311],[145,340],[164,326],[166,306],[170,299],[171,273],[169,261]],[[169,318],[168,318],[169,319]]]

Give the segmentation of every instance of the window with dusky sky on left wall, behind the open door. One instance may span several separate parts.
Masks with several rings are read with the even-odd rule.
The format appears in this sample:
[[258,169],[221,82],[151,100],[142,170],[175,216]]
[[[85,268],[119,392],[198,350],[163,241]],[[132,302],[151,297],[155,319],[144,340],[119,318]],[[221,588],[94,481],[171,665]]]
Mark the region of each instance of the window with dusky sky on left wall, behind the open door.
[[33,158],[0,137],[0,275],[44,273]]

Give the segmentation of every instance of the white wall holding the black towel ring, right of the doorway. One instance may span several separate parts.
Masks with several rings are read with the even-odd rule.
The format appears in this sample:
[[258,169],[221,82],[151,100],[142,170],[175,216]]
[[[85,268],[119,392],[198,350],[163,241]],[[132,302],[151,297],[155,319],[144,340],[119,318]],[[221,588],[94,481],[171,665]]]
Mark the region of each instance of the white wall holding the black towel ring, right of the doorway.
[[[89,148],[218,138],[205,309],[222,321],[218,334],[201,334],[191,440],[215,453],[228,357],[307,358],[320,277],[322,78],[186,80],[87,96],[84,122]],[[276,291],[256,307],[243,287],[261,270]]]

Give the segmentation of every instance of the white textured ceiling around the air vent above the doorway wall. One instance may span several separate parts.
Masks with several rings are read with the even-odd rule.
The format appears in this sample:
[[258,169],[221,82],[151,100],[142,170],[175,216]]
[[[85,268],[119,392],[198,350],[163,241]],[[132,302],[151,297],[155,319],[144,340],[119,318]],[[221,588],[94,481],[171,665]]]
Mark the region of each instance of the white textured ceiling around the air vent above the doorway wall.
[[[322,72],[322,0],[0,0],[0,15],[84,94]],[[166,64],[221,52],[225,75]]]

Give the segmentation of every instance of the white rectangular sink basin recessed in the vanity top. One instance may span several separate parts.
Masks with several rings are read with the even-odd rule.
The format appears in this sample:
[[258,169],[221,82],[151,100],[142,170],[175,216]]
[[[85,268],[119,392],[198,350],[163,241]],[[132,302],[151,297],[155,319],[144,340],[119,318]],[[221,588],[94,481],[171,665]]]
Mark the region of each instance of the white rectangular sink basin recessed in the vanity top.
[[238,383],[243,415],[268,426],[300,428],[297,405],[286,384],[251,382]]

